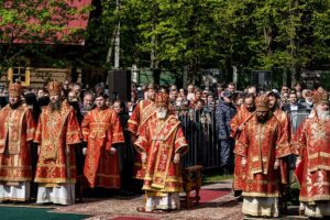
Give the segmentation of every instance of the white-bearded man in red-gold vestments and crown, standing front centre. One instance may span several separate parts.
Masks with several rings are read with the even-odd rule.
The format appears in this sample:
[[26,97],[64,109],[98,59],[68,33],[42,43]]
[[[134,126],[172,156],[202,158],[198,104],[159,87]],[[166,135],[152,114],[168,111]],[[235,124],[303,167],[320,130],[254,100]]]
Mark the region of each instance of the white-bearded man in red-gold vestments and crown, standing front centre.
[[183,191],[180,156],[188,145],[180,122],[168,113],[168,95],[156,96],[156,117],[150,118],[141,129],[135,148],[145,167],[143,190],[146,201],[139,211],[179,209]]

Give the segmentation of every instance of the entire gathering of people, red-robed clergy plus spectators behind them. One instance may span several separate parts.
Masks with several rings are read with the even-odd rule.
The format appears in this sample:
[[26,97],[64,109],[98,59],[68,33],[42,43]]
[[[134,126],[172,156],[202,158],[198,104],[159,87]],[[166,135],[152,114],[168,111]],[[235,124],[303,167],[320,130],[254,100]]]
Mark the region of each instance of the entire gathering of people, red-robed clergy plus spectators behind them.
[[[134,176],[146,196],[139,211],[179,209],[183,156],[207,166],[216,145],[243,213],[279,216],[288,169],[297,167],[301,211],[330,216],[329,94],[302,87],[133,82],[123,101],[102,82],[0,86],[0,200],[26,201],[35,190],[37,204],[72,205],[77,176],[114,189],[130,188]],[[307,119],[296,120],[301,112]]]

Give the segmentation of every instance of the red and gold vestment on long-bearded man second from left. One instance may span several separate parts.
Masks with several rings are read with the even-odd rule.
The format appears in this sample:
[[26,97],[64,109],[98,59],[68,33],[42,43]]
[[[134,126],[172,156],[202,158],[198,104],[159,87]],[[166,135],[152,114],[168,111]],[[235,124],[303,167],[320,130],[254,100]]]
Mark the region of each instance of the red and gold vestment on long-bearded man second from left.
[[76,183],[74,144],[80,143],[81,132],[75,110],[66,101],[61,110],[43,109],[34,142],[40,144],[35,183],[54,187]]

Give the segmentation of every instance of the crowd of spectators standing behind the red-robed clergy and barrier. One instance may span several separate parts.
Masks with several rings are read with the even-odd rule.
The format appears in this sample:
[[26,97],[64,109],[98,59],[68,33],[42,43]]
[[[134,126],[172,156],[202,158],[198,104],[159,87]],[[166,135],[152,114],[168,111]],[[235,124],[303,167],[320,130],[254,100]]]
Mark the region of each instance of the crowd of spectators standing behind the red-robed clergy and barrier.
[[[81,121],[86,112],[95,107],[94,96],[97,92],[107,92],[106,85],[100,82],[94,88],[82,86],[81,84],[72,82],[67,79],[63,84],[64,96],[77,111],[78,120]],[[322,90],[322,87],[316,89]],[[122,124],[125,124],[129,117],[138,102],[146,98],[146,85],[136,85],[132,82],[131,100],[121,102],[116,97],[109,95],[107,105],[114,108],[119,114],[124,114]],[[196,164],[202,165],[204,168],[216,168],[221,166],[221,152],[219,146],[219,124],[216,121],[216,109],[224,102],[226,92],[229,91],[230,106],[239,109],[243,102],[245,94],[265,94],[266,91],[257,91],[255,87],[250,86],[243,91],[238,91],[235,85],[217,84],[212,87],[200,89],[194,84],[189,84],[186,89],[178,89],[175,85],[168,87],[160,87],[160,91],[167,91],[173,106],[173,113],[182,122],[185,136],[189,144],[189,152],[184,156],[183,164],[185,167]],[[70,92],[73,91],[73,92]],[[278,95],[279,106],[290,108],[290,105],[300,105],[308,108],[302,110],[290,110],[287,113],[290,118],[293,133],[296,132],[299,124],[310,113],[309,98],[311,90],[304,89],[301,84],[297,84],[295,88],[289,89],[283,86],[280,90],[272,90]],[[292,97],[295,95],[296,97]],[[37,120],[41,109],[48,103],[48,95],[45,87],[43,88],[25,88],[23,99],[26,105],[34,111],[35,120]],[[8,89],[0,85],[0,106],[8,103]],[[116,102],[120,102],[120,108],[116,107]],[[307,105],[307,106],[306,106]],[[228,125],[229,127],[229,125]],[[129,135],[129,134],[127,134]],[[128,138],[129,139],[129,138]],[[130,147],[132,147],[130,145]],[[233,148],[231,150],[231,152]],[[231,161],[233,156],[231,155]]]

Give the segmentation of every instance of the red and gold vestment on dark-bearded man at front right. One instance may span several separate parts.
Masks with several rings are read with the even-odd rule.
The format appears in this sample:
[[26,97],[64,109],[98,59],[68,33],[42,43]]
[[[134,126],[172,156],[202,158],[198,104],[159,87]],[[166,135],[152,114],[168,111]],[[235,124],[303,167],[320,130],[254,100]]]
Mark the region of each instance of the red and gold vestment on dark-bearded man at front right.
[[256,116],[248,121],[240,135],[235,154],[245,157],[245,184],[243,196],[279,197],[280,172],[274,169],[275,160],[290,154],[287,139],[283,135],[278,120],[271,114],[265,123]]

